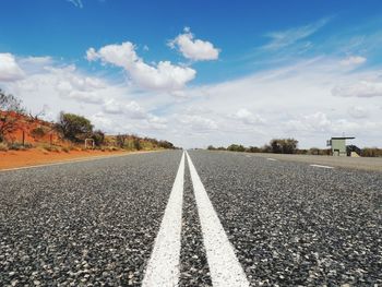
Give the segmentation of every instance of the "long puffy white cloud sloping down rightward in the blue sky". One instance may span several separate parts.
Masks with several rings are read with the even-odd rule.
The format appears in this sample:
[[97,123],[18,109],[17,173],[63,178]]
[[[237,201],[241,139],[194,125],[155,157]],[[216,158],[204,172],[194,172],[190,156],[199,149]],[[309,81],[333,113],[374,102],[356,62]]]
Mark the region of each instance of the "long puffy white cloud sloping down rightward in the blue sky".
[[150,65],[136,55],[135,46],[126,41],[121,45],[108,45],[98,51],[89,48],[86,52],[88,61],[100,60],[123,68],[131,76],[133,83],[141,88],[154,91],[179,91],[195,77],[196,71],[175,65],[169,61],[159,61],[156,65]]

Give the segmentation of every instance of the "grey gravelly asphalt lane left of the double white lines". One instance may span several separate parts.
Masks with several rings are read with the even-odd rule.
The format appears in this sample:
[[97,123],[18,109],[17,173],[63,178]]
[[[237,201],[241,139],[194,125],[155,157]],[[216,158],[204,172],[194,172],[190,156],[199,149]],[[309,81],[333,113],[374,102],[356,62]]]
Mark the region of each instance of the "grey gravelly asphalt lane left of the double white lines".
[[0,285],[140,286],[180,157],[0,172]]

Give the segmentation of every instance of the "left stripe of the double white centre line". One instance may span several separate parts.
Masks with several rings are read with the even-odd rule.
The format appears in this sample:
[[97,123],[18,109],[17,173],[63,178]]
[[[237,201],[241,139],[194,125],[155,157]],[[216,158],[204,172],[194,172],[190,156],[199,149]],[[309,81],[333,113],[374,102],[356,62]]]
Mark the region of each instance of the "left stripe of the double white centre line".
[[184,153],[182,154],[153,253],[142,282],[143,287],[178,286],[181,217],[184,183]]

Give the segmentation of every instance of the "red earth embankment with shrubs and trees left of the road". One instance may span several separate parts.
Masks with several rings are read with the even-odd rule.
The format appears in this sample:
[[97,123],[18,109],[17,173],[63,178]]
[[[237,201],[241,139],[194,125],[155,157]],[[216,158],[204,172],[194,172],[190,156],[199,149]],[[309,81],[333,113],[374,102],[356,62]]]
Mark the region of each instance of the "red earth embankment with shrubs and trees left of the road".
[[[57,122],[27,113],[22,101],[0,89],[0,152],[23,151],[36,147],[45,152],[99,151],[153,151],[174,150],[172,143],[135,134],[107,135],[95,130],[89,119],[81,115],[61,111]],[[85,141],[87,145],[85,146]],[[94,144],[93,144],[94,143]]]

